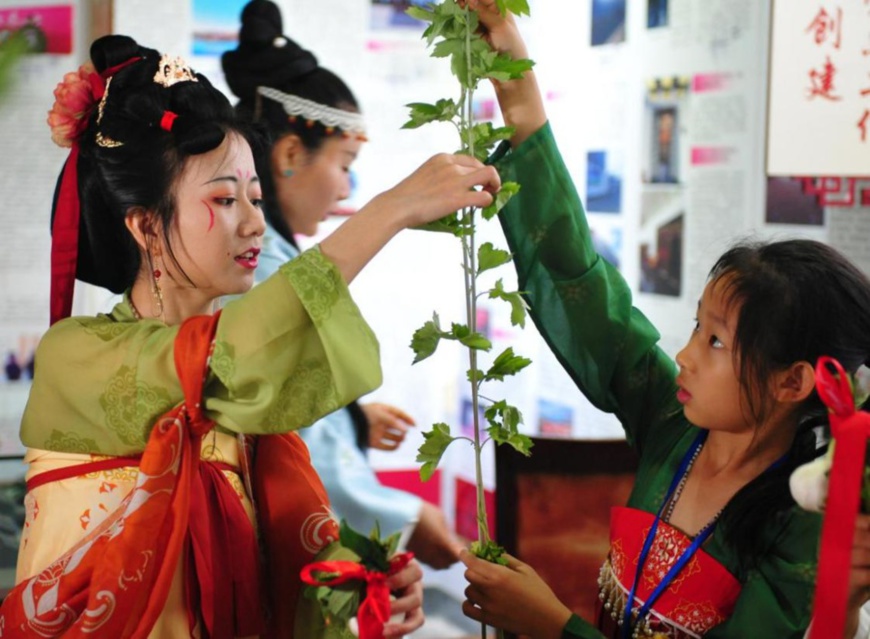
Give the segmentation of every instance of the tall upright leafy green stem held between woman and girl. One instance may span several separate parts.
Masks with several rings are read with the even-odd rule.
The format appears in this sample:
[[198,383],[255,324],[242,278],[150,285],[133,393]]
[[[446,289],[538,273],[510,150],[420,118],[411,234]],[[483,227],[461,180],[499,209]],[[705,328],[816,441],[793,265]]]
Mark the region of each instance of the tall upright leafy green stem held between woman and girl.
[[[518,15],[528,15],[527,0],[496,0],[496,5],[502,15],[505,12]],[[514,60],[510,56],[494,51],[490,44],[480,34],[480,23],[477,13],[455,0],[445,0],[427,8],[412,7],[408,13],[429,23],[423,37],[432,47],[432,56],[449,58],[453,75],[459,81],[460,95],[458,100],[440,99],[434,104],[415,102],[409,104],[410,120],[403,128],[414,129],[432,122],[449,122],[459,134],[461,147],[459,153],[464,153],[485,160],[493,147],[502,140],[511,137],[512,127],[494,127],[491,122],[474,122],[472,104],[474,92],[482,80],[508,81],[521,78],[532,68],[531,60]],[[531,440],[522,435],[518,428],[522,423],[522,415],[514,406],[505,400],[493,400],[480,394],[483,384],[503,381],[506,376],[515,375],[531,363],[528,358],[514,353],[512,348],[500,353],[488,368],[478,365],[478,353],[489,352],[492,343],[477,330],[477,301],[482,296],[499,299],[511,307],[511,323],[514,326],[525,326],[526,304],[519,291],[508,291],[499,279],[492,288],[478,292],[478,279],[491,269],[503,266],[511,261],[511,254],[496,248],[487,242],[477,246],[475,231],[478,218],[491,220],[501,208],[515,195],[520,186],[515,182],[505,182],[494,198],[493,203],[482,209],[462,209],[455,214],[426,225],[424,228],[432,231],[452,233],[462,243],[463,273],[465,277],[465,311],[466,322],[451,323],[449,328],[442,326],[437,313],[432,320],[418,329],[411,340],[411,348],[415,353],[414,363],[420,362],[432,355],[442,340],[456,341],[468,350],[469,368],[468,381],[471,385],[472,415],[474,419],[475,469],[477,477],[477,524],[479,540],[473,545],[473,552],[479,557],[490,561],[498,561],[503,550],[491,539],[488,526],[483,493],[483,478],[481,472],[481,449],[486,441],[481,439],[479,423],[479,406],[481,400],[487,402],[484,418],[489,439],[497,444],[508,444],[521,453],[528,455]],[[425,441],[419,449],[417,461],[422,462],[420,475],[429,479],[435,472],[441,457],[447,447],[457,439],[447,424],[435,424],[431,431],[423,433]]]

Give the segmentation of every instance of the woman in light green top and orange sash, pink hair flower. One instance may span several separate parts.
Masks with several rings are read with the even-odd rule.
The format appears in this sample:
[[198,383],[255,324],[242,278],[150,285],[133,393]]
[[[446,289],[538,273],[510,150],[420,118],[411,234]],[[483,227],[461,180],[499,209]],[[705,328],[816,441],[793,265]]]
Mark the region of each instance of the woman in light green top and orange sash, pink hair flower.
[[[261,563],[276,562],[257,529],[280,531],[297,595],[298,568],[340,550],[293,431],[380,383],[377,341],[348,282],[400,230],[491,202],[498,176],[435,156],[245,293],[265,231],[258,138],[179,58],[120,35],[95,41],[90,57],[58,85],[49,114],[70,155],[53,207],[52,326],[21,425],[18,584],[0,627],[262,636]],[[75,278],[123,300],[68,317]],[[272,465],[273,451],[293,464]],[[296,510],[255,519],[252,495],[276,484]],[[421,575],[413,561],[391,567],[400,620],[387,636],[422,623]],[[297,599],[280,603],[296,610]],[[282,636],[323,636],[306,603]]]

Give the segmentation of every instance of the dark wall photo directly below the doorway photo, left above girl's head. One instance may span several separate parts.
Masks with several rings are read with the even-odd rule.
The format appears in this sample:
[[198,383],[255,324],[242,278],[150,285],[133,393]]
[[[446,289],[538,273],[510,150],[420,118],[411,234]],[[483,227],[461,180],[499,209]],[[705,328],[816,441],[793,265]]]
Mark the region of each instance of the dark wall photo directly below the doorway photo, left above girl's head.
[[640,243],[642,293],[679,297],[683,283],[683,220],[680,213],[654,225],[653,239]]

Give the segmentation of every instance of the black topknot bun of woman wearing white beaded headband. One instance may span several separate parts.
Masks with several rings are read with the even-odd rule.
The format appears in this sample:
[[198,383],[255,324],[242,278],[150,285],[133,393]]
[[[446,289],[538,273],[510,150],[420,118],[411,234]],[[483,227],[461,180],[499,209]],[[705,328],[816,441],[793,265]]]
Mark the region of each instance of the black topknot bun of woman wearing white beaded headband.
[[242,9],[239,46],[221,56],[227,85],[240,99],[253,100],[258,86],[287,90],[319,68],[314,54],[282,30],[281,11],[271,0],[251,0]]

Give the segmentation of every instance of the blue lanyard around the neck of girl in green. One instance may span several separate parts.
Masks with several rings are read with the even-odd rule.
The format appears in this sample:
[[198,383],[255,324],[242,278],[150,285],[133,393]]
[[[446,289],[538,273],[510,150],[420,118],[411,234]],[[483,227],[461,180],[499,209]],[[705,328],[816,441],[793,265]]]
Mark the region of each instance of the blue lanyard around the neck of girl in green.
[[[650,548],[652,548],[653,540],[655,540],[656,530],[659,527],[659,521],[662,518],[662,512],[665,509],[665,504],[671,498],[671,495],[674,494],[674,491],[677,489],[677,485],[680,483],[680,480],[683,478],[683,475],[686,474],[688,470],[689,463],[691,462],[692,457],[695,455],[695,452],[701,445],[704,443],[704,440],[707,439],[708,431],[702,430],[695,437],[695,441],[692,442],[692,445],[689,447],[689,450],[686,451],[686,454],[683,455],[683,460],[680,462],[680,467],[677,469],[674,478],[671,480],[671,486],[668,488],[668,492],[665,495],[664,500],[662,501],[662,505],[659,506],[659,511],[656,513],[656,518],[653,521],[652,528],[647,533],[646,539],[643,542],[643,550],[640,551],[640,557],[637,560],[637,571],[634,575],[634,583],[631,586],[631,592],[628,593],[628,599],[625,602],[625,608],[623,609],[623,621],[622,621],[622,638],[629,639],[631,633],[632,626],[632,608],[634,606],[634,597],[637,593],[637,585],[640,583],[641,574],[643,574],[643,566],[646,563],[646,558],[649,555]],[[668,570],[667,574],[662,578],[659,582],[659,585],[656,586],[655,590],[653,590],[652,594],[646,600],[646,603],[638,610],[637,613],[637,622],[640,623],[641,619],[643,619],[647,613],[649,613],[650,608],[656,602],[656,600],[661,596],[661,594],[667,589],[668,586],[671,585],[671,582],[676,578],[676,576],[680,573],[688,561],[694,556],[694,554],[698,551],[707,538],[713,533],[713,528],[716,527],[716,522],[710,522],[692,541],[691,545],[686,548],[680,557],[677,559],[676,563],[671,566],[671,569]]]

